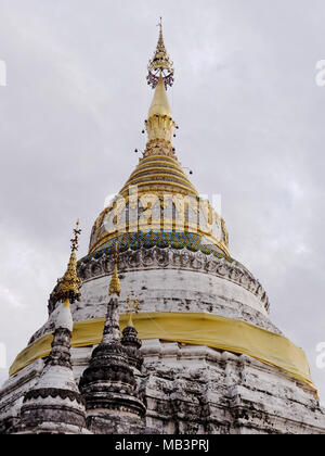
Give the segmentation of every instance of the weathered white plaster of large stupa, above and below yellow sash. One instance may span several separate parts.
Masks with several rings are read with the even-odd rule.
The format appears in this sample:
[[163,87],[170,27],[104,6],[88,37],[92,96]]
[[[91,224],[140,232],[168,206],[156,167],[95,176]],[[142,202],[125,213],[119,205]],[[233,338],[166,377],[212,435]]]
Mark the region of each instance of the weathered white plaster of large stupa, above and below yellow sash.
[[[112,270],[110,257],[79,266],[82,297],[72,306],[74,320],[106,315]],[[269,319],[269,301],[259,282],[223,259],[172,249],[127,252],[119,274],[121,307],[134,292],[141,312],[208,312],[280,332]],[[53,331],[53,321],[50,315],[32,340]],[[92,350],[72,350],[77,384]],[[143,341],[141,350],[144,365],[135,372],[138,389],[147,406],[146,426],[156,432],[325,433],[325,414],[313,391],[275,367],[246,355],[160,340]],[[42,368],[39,359],[2,388],[0,433],[18,419],[23,396]],[[122,418],[115,428],[123,430]]]

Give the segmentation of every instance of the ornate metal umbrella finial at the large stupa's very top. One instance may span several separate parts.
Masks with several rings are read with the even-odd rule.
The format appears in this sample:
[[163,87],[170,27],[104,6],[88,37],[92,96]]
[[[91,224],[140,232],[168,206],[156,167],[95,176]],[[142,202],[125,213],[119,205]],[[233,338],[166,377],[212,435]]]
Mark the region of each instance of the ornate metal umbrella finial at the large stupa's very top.
[[146,77],[147,84],[152,86],[153,89],[157,86],[160,77],[162,78],[166,88],[167,86],[171,87],[173,85],[173,66],[164,43],[162,17],[160,17],[157,27],[160,28],[158,43],[153,59],[150,60],[147,67],[148,75]]

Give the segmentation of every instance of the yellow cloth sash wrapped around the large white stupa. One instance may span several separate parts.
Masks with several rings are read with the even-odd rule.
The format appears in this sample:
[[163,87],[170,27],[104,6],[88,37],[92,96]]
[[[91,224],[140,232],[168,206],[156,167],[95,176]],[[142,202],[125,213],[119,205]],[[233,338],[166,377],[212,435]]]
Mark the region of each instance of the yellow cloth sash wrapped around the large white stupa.
[[[120,316],[120,329],[128,316]],[[72,346],[89,346],[102,340],[105,318],[76,321]],[[160,339],[251,356],[262,363],[276,366],[316,391],[306,355],[301,349],[283,335],[253,325],[211,314],[152,313],[133,315],[133,322],[142,340]],[[46,334],[18,354],[10,368],[13,376],[38,358],[48,356],[52,334]]]

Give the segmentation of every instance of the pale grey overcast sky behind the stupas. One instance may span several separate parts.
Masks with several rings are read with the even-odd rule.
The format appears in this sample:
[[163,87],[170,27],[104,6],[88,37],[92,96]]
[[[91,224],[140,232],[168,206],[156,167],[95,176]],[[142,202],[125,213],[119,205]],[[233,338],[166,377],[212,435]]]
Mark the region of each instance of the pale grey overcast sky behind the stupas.
[[[75,220],[87,253],[143,149],[146,65],[164,16],[179,160],[222,195],[232,256],[309,357],[325,402],[324,0],[0,0],[0,343],[47,319]],[[6,376],[0,369],[0,382]]]

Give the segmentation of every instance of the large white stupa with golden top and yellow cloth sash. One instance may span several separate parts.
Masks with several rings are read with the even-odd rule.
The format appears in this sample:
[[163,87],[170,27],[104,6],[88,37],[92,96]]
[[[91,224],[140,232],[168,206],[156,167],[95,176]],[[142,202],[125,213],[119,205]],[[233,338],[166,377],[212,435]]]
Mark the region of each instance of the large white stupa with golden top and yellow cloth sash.
[[[96,218],[89,253],[77,265],[82,286],[80,300],[70,303],[72,367],[86,427],[99,433],[101,422],[105,433],[123,432],[131,420],[139,433],[325,433],[304,353],[271,321],[265,290],[232,257],[223,218],[199,198],[179,162],[167,96],[173,79],[160,23],[148,65],[155,92],[145,150]],[[112,278],[120,295],[107,292]],[[24,397],[34,397],[48,362],[62,306],[57,289],[49,320],[17,355],[1,389],[0,433],[20,429],[22,419],[28,425]],[[132,325],[125,312],[131,295],[140,303]],[[114,378],[105,367],[109,356]]]

